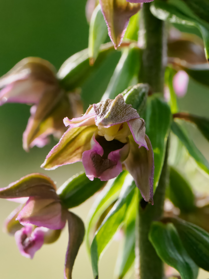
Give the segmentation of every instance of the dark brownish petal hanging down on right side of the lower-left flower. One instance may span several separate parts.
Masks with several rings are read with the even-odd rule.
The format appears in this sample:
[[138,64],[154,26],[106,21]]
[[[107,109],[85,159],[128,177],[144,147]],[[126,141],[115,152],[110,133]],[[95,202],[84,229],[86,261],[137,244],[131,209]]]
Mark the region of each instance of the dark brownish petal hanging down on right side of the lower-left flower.
[[67,252],[65,256],[64,278],[71,279],[72,268],[78,250],[83,242],[85,228],[82,220],[72,212],[68,211],[67,221],[68,221],[68,230],[69,230],[69,242],[68,242]]

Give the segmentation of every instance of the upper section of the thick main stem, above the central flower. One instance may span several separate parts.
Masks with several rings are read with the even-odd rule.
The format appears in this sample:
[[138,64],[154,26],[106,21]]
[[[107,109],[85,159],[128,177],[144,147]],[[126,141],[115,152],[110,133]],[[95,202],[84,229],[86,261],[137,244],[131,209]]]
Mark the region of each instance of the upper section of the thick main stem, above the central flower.
[[166,59],[166,37],[164,21],[155,18],[150,12],[150,3],[144,3],[142,9],[144,28],[144,51],[142,56],[142,79],[154,92],[164,90],[164,61]]

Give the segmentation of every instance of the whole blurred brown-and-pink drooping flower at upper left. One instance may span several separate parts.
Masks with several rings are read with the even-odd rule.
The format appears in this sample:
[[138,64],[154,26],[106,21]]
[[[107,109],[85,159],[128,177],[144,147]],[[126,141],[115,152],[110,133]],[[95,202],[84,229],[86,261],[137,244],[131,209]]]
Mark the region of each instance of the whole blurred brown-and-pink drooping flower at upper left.
[[45,146],[49,135],[58,138],[66,130],[62,119],[82,113],[79,95],[65,93],[59,86],[54,66],[37,57],[18,62],[0,78],[0,105],[4,103],[33,104],[23,134],[23,148]]

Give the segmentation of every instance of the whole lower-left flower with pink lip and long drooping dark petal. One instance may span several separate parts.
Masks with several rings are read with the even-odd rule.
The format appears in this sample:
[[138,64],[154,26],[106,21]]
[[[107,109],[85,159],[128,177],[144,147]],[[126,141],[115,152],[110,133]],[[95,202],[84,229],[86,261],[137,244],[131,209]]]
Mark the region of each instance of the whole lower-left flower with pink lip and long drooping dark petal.
[[62,206],[54,182],[34,173],[0,189],[0,198],[23,203],[6,219],[4,229],[14,235],[20,253],[33,258],[43,244],[56,241],[66,220],[69,244],[64,278],[71,279],[72,267],[84,237],[82,220]]

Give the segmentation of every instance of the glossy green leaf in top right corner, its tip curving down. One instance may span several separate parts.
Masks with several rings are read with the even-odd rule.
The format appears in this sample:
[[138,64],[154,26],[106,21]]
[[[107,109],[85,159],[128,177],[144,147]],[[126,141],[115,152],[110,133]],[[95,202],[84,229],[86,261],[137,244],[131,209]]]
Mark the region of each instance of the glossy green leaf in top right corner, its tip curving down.
[[151,4],[150,10],[154,16],[161,20],[198,28],[203,37],[206,58],[209,58],[209,24],[196,16],[183,1],[155,0]]

